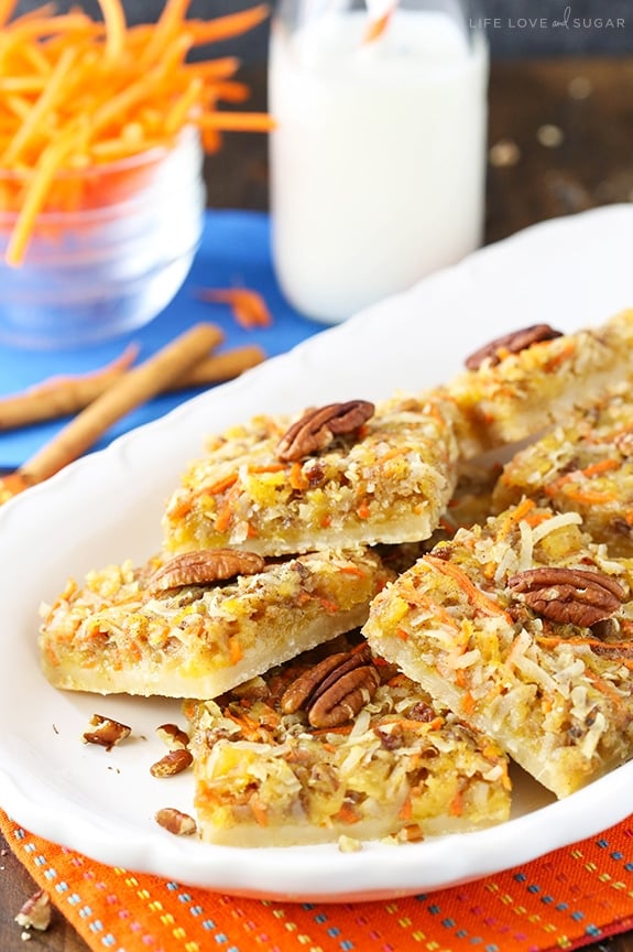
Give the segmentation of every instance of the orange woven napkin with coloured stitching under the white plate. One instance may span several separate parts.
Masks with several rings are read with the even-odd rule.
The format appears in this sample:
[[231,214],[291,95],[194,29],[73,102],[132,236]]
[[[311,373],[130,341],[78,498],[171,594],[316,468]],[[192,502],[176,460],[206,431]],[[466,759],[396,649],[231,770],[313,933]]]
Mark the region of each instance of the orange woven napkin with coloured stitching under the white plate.
[[94,952],[547,952],[633,928],[633,816],[465,886],[342,905],[222,896],[95,863],[2,812],[0,827]]

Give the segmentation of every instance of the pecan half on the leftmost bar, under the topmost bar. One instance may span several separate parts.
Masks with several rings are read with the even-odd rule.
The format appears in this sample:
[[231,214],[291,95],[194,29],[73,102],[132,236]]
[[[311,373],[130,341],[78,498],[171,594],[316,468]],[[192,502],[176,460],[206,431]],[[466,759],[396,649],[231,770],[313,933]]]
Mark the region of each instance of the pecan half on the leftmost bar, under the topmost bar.
[[156,569],[148,581],[148,593],[156,595],[184,585],[210,585],[238,575],[255,575],[266,563],[257,552],[238,549],[209,549],[183,552]]

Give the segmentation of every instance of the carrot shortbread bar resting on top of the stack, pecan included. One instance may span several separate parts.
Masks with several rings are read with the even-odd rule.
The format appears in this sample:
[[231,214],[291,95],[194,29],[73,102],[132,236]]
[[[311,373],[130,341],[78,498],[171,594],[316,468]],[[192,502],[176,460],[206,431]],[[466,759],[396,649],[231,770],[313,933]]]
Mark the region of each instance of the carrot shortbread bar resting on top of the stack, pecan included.
[[279,555],[428,538],[456,480],[450,408],[395,397],[258,416],[209,440],[166,506],[172,552]]

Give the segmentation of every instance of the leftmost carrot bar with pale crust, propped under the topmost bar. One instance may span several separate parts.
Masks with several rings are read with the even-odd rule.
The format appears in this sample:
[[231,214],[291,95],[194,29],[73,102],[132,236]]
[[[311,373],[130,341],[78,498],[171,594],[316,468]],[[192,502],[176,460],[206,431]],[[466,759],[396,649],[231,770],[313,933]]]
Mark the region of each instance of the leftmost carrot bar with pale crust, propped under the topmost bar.
[[57,688],[214,697],[362,624],[391,577],[373,553],[266,563],[190,552],[70,580],[44,609],[40,649]]

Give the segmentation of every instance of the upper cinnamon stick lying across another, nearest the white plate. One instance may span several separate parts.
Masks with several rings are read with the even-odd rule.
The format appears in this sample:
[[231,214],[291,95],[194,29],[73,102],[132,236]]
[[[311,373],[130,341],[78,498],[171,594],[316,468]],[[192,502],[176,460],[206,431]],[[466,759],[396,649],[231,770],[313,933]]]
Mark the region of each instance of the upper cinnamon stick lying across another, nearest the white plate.
[[96,443],[131,410],[141,405],[197,364],[217,340],[212,324],[197,324],[111,383],[18,470],[32,486],[53,476]]

